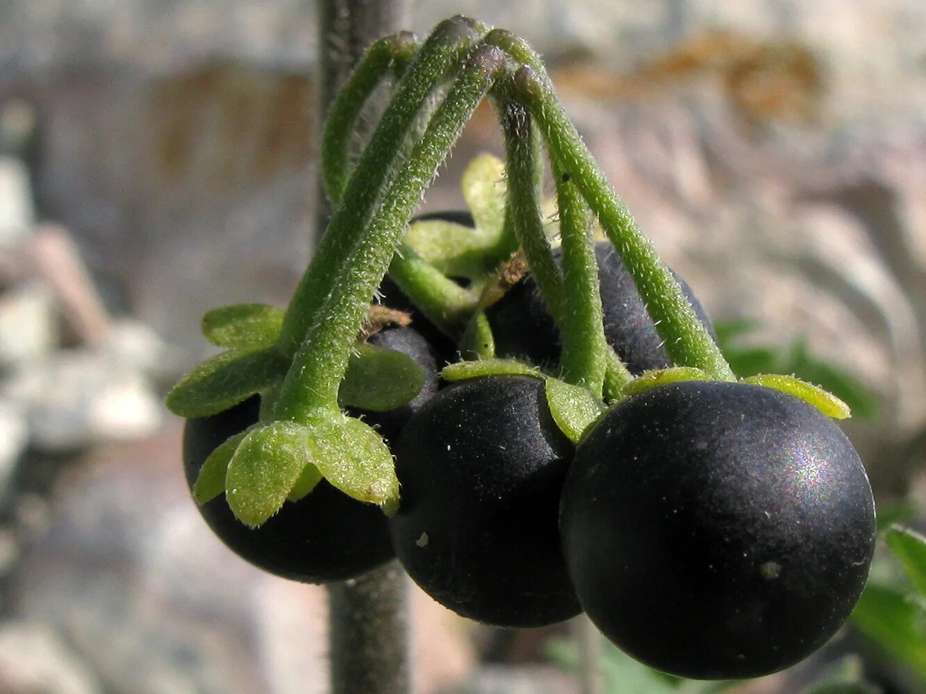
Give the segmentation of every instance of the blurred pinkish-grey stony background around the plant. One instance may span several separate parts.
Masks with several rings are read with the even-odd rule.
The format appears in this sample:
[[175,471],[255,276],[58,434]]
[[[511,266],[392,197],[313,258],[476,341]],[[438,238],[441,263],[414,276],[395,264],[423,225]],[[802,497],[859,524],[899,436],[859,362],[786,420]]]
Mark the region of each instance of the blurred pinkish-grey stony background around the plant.
[[[458,12],[544,54],[734,366],[853,404],[882,516],[918,524],[926,5],[440,0],[409,3],[407,27]],[[210,535],[162,405],[210,353],[206,309],[284,306],[305,267],[317,24],[308,0],[0,3],[0,692],[327,691],[324,590]],[[501,152],[488,108],[422,211],[458,208],[482,151]],[[922,614],[904,611],[891,561],[876,578],[901,596],[896,624],[857,620],[736,690],[797,692],[820,673],[926,690]],[[577,691],[569,632],[414,607],[422,694]],[[608,692],[707,691],[602,659]]]

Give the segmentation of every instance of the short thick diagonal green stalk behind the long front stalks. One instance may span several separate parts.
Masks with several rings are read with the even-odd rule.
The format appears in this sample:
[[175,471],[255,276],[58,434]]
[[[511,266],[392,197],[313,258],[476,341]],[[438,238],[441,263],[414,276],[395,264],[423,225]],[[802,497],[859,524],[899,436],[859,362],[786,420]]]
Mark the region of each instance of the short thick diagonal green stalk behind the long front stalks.
[[478,297],[460,287],[403,244],[389,266],[394,279],[412,304],[445,335],[458,337],[460,329],[479,305]]

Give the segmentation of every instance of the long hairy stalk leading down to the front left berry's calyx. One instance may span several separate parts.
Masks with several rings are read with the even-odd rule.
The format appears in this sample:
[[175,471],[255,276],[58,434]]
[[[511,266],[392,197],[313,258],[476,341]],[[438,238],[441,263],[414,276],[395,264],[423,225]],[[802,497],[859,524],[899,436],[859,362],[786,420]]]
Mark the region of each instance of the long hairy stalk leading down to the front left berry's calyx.
[[[428,129],[383,196],[369,229],[351,250],[350,262],[335,275],[319,317],[309,326],[283,379],[275,412],[278,419],[309,422],[338,412],[338,388],[369,301],[421,195],[504,65],[504,54],[492,46],[479,46],[468,57],[444,103],[434,112]],[[357,167],[352,182],[359,170]]]

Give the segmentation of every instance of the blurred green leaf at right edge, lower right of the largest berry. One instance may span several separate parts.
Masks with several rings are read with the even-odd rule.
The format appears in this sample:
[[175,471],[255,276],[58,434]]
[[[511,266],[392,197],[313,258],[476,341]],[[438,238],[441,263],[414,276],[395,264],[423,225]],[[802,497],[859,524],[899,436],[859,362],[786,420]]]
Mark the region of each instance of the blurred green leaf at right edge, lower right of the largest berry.
[[920,606],[904,592],[869,581],[851,621],[874,646],[926,681],[926,625]]

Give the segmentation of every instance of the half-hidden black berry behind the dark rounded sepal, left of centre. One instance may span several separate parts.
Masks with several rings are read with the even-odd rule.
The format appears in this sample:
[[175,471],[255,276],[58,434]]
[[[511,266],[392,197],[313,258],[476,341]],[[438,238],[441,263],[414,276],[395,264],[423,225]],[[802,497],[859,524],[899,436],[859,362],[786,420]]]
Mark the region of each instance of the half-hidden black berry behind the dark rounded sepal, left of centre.
[[380,436],[392,446],[398,440],[402,428],[405,427],[408,421],[408,417],[437,392],[440,386],[440,378],[437,374],[438,357],[431,342],[425,340],[417,330],[412,328],[386,328],[370,335],[367,341],[377,347],[395,350],[410,356],[424,372],[424,384],[411,402],[387,412],[368,412],[353,409],[348,411],[348,414],[360,415],[367,424],[375,427]]

